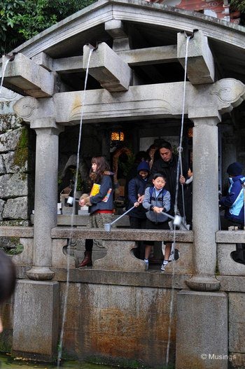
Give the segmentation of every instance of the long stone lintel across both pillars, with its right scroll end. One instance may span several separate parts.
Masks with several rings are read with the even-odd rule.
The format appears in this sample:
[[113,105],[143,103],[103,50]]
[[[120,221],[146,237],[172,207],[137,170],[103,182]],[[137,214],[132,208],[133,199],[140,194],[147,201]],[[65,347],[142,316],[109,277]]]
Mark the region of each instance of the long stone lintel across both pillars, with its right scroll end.
[[[179,99],[176,99],[176,96]],[[181,117],[183,82],[130,86],[126,92],[110,93],[107,90],[87,90],[83,121],[86,123],[115,120],[139,120]],[[55,94],[57,123],[77,124],[80,120],[83,92]],[[245,86],[233,78],[225,78],[212,85],[186,85],[185,114],[214,116],[232,111],[245,99]],[[72,123],[74,122],[74,123]]]

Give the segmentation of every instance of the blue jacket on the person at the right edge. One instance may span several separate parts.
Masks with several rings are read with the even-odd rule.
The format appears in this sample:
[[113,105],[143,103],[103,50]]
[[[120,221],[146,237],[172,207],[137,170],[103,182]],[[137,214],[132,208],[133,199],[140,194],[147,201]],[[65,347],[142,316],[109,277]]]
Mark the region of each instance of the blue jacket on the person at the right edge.
[[220,204],[225,207],[225,218],[237,223],[244,223],[244,176],[229,178],[230,188],[228,195],[221,197]]

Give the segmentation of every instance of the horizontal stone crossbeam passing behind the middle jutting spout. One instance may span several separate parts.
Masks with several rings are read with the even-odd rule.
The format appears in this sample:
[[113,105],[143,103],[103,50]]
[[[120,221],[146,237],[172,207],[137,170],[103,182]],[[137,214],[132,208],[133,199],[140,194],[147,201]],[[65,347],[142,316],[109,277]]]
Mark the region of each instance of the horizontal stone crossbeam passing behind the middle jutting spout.
[[[130,67],[178,62],[176,45],[118,51],[116,54]],[[52,59],[45,53],[40,53],[35,55],[32,60],[41,67],[49,71],[57,71],[59,74],[83,71],[82,55]]]

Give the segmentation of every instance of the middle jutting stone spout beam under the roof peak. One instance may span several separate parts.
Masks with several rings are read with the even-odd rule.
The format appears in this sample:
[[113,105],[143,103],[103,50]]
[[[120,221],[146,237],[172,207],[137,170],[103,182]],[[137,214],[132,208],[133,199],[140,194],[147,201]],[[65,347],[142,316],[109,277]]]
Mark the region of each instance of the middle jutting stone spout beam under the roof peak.
[[[83,46],[83,68],[87,68],[90,46]],[[89,74],[110,92],[127,91],[132,69],[104,42],[90,57]]]

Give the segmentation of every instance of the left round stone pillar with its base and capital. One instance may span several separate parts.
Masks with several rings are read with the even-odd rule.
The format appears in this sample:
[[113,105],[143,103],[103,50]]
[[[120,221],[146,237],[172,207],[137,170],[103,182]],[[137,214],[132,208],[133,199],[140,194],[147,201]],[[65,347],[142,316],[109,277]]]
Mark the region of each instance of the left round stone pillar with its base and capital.
[[58,135],[61,130],[52,118],[31,122],[36,130],[36,174],[34,206],[34,258],[29,279],[52,279],[52,239],[57,225]]

